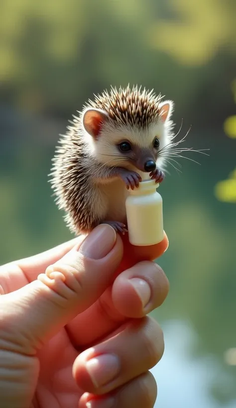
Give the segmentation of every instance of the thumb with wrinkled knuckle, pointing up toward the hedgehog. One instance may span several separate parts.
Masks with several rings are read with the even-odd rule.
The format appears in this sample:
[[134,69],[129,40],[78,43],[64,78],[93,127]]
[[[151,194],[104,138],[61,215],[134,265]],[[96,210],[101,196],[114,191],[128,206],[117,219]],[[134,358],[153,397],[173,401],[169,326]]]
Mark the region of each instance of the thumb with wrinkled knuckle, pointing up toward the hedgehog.
[[122,253],[122,241],[115,230],[105,224],[96,227],[79,248],[49,266],[37,280],[0,297],[0,337],[7,327],[8,341],[11,334],[19,352],[35,352],[102,295]]

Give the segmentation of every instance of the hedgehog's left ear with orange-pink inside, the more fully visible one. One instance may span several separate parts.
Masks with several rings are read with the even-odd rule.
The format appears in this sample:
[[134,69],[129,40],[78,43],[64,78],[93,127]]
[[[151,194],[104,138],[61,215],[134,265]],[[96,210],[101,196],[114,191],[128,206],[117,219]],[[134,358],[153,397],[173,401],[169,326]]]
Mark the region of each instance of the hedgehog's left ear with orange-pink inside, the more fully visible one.
[[96,139],[104,121],[108,119],[108,117],[108,114],[104,110],[94,108],[86,109],[83,114],[83,125],[86,132]]

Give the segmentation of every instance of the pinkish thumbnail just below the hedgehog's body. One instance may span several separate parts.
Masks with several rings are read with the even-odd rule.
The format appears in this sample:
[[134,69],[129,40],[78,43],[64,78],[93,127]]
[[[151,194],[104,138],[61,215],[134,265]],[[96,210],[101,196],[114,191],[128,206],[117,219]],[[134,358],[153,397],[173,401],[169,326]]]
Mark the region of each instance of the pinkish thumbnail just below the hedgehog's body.
[[101,224],[93,229],[80,247],[80,253],[86,258],[102,259],[113,249],[117,239],[115,229]]

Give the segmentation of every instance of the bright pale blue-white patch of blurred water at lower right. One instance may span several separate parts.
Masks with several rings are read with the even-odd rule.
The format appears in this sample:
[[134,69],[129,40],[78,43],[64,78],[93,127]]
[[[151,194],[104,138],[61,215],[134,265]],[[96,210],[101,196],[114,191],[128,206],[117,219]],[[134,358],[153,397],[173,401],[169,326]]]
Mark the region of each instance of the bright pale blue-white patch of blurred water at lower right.
[[[184,321],[169,321],[163,325],[165,352],[162,360],[150,370],[154,375],[158,396],[155,408],[220,408],[209,388],[221,375],[214,356],[193,359],[191,348],[197,333]],[[230,376],[225,378],[234,384]],[[236,399],[224,408],[236,408]]]

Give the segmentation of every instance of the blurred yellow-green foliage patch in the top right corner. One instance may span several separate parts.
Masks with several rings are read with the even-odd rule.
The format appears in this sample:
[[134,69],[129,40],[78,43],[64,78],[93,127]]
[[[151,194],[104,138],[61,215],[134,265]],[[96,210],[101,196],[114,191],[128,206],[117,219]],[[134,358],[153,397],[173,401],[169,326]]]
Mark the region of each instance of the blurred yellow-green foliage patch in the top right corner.
[[193,66],[211,61],[219,47],[227,45],[235,52],[235,15],[229,1],[170,0],[167,3],[177,18],[153,24],[150,30],[153,47],[167,51],[182,64]]

